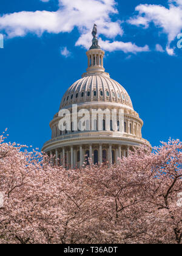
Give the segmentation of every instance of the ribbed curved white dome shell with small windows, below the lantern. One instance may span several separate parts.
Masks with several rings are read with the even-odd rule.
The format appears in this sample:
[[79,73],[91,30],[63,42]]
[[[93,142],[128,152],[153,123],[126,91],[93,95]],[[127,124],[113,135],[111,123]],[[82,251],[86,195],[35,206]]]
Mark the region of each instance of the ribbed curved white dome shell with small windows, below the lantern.
[[[89,96],[87,94],[88,91],[90,91]],[[96,95],[93,94],[94,91],[96,91]],[[103,96],[101,94],[101,91],[103,92]],[[109,94],[107,94],[107,91]],[[78,93],[78,98],[76,98],[76,93]],[[115,96],[113,96],[113,93],[115,94]],[[120,97],[118,97],[118,93],[120,94]],[[73,94],[73,97],[71,99],[72,94]],[[67,101],[68,96],[69,96],[69,99]],[[128,99],[128,101],[126,101],[126,99]],[[115,80],[111,79],[107,73],[101,73],[101,74],[95,73],[95,74],[90,74],[89,76],[84,76],[82,79],[77,80],[66,91],[66,93],[62,98],[60,109],[62,107],[66,107],[71,104],[76,104],[79,102],[97,102],[97,101],[98,102],[99,101],[116,102],[116,103],[121,103],[123,105],[127,105],[133,108],[132,101],[129,97],[129,94],[122,87],[122,85],[120,85]]]

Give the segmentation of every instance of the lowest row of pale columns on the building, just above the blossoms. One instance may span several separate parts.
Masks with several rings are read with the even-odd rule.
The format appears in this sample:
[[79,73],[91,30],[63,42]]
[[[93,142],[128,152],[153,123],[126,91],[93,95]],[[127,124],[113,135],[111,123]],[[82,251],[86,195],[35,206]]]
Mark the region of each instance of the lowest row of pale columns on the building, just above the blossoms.
[[115,144],[87,144],[80,146],[64,146],[47,152],[55,165],[65,168],[82,168],[89,164],[89,159],[95,164],[108,162],[119,163],[118,158],[128,157],[130,146]]

